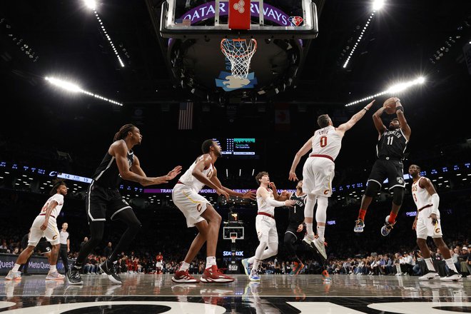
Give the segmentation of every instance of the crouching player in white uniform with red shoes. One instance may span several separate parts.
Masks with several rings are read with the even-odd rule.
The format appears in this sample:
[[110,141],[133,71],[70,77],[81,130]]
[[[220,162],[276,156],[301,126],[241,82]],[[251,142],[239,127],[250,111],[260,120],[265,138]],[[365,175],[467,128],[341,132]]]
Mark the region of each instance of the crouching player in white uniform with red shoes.
[[214,166],[214,163],[221,157],[221,147],[218,143],[213,140],[206,140],[201,146],[201,151],[203,151],[203,155],[198,156],[190,168],[183,173],[172,191],[173,203],[185,216],[186,226],[198,229],[196,238],[191,243],[185,259],[173,275],[172,280],[176,283],[199,282],[198,279],[193,278],[188,273],[188,268],[206,242],[206,268],[201,276],[201,282],[230,283],[234,281],[234,278],[221,273],[218,265],[216,265],[216,245],[218,244],[221,216],[211,206],[211,203],[198,193],[203,186],[209,186],[216,190],[218,195],[226,198],[238,196],[253,199],[255,197],[252,191],[236,193],[221,184]]

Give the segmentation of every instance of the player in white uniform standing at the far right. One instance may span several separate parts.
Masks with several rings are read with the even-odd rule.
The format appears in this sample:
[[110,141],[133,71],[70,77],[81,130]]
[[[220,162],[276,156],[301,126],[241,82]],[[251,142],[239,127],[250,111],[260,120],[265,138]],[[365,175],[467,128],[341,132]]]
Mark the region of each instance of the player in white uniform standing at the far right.
[[440,249],[445,258],[450,273],[446,277],[440,278],[443,281],[457,281],[462,280],[461,275],[457,272],[455,264],[453,263],[450,249],[442,239],[442,226],[440,225],[440,211],[438,197],[435,188],[429,178],[420,176],[420,167],[417,165],[409,166],[409,174],[412,176],[412,198],[414,199],[415,206],[417,206],[417,215],[412,224],[412,229],[417,233],[417,245],[419,245],[420,253],[422,253],[425,263],[427,263],[427,273],[422,275],[419,280],[438,279],[435,267],[430,258],[430,250],[427,245],[427,237],[432,237],[433,242]]

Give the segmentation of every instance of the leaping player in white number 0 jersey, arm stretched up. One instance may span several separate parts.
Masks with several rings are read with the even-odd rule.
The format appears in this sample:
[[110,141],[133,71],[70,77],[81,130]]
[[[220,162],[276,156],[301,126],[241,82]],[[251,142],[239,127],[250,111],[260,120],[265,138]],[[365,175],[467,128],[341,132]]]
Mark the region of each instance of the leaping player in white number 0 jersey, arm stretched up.
[[[307,233],[303,241],[317,250],[324,259],[327,259],[324,231],[328,198],[332,196],[332,180],[335,174],[334,161],[340,152],[345,132],[350,130],[360,118],[363,118],[374,102],[368,103],[365,108],[355,113],[349,121],[340,124],[338,128],[333,126],[332,120],[327,114],[319,116],[318,125],[320,129],[315,131],[314,136],[309,138],[296,153],[290,169],[289,179],[298,181],[295,173],[296,167],[301,157],[312,150],[303,167],[303,192],[308,193],[304,210]],[[315,220],[318,224],[318,238],[314,239],[313,216],[316,202],[318,203],[318,209],[315,213]]]

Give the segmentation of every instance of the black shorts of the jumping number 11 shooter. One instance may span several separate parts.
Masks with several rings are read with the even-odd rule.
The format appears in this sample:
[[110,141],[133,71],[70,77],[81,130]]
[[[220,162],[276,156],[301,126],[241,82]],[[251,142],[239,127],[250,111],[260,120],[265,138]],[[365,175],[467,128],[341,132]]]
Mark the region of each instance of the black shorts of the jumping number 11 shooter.
[[383,182],[388,179],[389,189],[400,186],[405,188],[404,165],[402,161],[378,159],[371,169],[369,181],[375,181],[381,187]]

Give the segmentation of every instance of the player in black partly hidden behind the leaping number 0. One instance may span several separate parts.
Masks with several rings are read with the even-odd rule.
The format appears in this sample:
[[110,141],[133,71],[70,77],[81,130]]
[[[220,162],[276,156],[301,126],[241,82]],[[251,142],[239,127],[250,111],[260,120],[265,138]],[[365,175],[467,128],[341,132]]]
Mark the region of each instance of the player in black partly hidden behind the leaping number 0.
[[[270,187],[273,190],[273,196],[277,198],[278,192],[276,191],[275,184],[270,183]],[[291,270],[290,275],[298,275],[301,269],[304,268],[303,262],[298,258],[296,255],[296,250],[294,247],[294,243],[299,238],[303,237],[304,235],[301,233],[304,229],[304,207],[306,196],[308,194],[303,193],[303,181],[298,181],[296,185],[296,193],[283,193],[279,198],[279,201],[285,201],[287,199],[295,201],[295,206],[288,207],[289,214],[288,214],[288,228],[285,232],[285,238],[283,242],[285,243],[285,248],[288,250],[288,258],[289,260],[293,260],[295,267]]]

